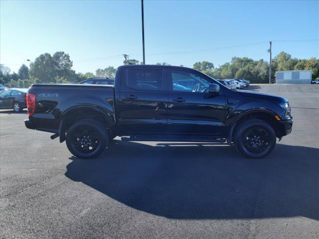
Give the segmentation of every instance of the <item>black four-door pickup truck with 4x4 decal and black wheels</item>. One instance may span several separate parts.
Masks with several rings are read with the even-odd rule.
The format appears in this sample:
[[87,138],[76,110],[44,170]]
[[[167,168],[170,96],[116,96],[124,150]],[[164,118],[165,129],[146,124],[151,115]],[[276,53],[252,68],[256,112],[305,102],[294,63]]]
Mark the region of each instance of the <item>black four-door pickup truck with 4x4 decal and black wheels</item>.
[[195,141],[234,145],[261,158],[292,130],[287,99],[230,90],[194,69],[127,65],[114,86],[34,84],[25,126],[54,133],[80,158],[98,156],[109,140]]

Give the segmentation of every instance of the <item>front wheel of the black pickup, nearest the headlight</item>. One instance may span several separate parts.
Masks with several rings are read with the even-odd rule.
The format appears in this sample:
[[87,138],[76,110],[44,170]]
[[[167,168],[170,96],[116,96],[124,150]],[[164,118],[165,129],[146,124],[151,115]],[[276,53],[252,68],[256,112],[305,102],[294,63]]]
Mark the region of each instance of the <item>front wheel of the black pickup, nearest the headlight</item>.
[[276,133],[269,123],[251,119],[237,127],[234,142],[237,151],[245,157],[263,158],[273,151]]

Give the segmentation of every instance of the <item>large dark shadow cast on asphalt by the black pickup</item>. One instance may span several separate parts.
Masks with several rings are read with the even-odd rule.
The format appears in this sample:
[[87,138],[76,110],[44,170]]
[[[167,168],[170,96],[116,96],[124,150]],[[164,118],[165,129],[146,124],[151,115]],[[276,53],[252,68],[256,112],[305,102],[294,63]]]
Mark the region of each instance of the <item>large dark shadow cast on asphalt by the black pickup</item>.
[[70,159],[66,177],[166,218],[319,220],[317,148],[277,144],[252,160],[220,144],[113,140],[97,159]]

